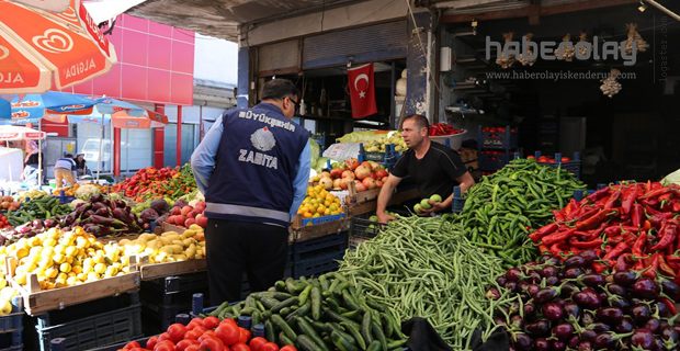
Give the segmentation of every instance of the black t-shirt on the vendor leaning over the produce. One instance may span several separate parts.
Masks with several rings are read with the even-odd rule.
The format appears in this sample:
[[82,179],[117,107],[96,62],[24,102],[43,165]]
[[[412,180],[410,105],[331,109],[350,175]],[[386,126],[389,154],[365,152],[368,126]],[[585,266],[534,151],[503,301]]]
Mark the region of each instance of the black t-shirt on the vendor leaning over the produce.
[[395,177],[411,177],[422,197],[439,194],[442,199],[453,193],[453,186],[458,184],[456,178],[465,172],[467,169],[458,152],[435,141],[430,143],[422,159],[417,159],[416,152],[408,149],[392,169]]

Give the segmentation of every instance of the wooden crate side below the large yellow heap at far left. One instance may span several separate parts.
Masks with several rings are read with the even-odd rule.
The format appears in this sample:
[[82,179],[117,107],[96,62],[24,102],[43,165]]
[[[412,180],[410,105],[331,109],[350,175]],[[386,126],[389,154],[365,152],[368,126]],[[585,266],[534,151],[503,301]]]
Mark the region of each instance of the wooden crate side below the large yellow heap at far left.
[[16,259],[8,258],[5,270],[10,272],[9,282],[21,294],[24,309],[31,316],[37,316],[49,310],[63,309],[102,297],[116,296],[125,292],[139,290],[140,274],[137,271],[113,278],[101,279],[95,282],[82,283],[76,286],[42,290],[36,274],[26,278],[25,286],[13,280],[16,269]]

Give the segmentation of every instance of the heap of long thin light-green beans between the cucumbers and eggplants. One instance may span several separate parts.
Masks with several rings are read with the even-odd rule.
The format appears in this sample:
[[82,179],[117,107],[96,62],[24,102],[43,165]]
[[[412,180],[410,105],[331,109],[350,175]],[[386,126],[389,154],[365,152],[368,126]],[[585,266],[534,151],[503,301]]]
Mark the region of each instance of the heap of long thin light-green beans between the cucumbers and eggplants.
[[427,318],[455,350],[471,349],[473,331],[483,339],[497,328],[485,298],[497,286],[501,260],[471,244],[442,218],[400,217],[381,234],[348,250],[339,273],[359,293],[389,308],[398,320]]

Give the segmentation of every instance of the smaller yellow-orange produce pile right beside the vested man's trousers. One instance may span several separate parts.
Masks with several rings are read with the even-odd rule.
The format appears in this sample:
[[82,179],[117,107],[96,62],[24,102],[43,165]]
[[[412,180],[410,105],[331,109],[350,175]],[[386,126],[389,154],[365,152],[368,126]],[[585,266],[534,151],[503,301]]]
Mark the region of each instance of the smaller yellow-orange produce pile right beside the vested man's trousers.
[[134,240],[118,241],[126,256],[148,256],[150,263],[178,262],[205,258],[203,228],[192,224],[182,234],[166,231],[161,235],[143,234]]

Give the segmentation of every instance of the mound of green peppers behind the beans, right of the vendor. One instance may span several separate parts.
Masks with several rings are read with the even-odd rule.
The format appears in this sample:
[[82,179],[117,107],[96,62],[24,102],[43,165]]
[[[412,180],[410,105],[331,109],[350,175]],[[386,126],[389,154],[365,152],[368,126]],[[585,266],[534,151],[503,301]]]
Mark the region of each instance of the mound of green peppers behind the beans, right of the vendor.
[[515,267],[537,256],[528,237],[532,228],[551,222],[553,210],[585,189],[566,170],[517,159],[471,188],[453,218],[473,242],[501,258],[503,267]]

